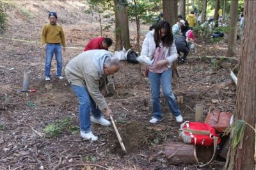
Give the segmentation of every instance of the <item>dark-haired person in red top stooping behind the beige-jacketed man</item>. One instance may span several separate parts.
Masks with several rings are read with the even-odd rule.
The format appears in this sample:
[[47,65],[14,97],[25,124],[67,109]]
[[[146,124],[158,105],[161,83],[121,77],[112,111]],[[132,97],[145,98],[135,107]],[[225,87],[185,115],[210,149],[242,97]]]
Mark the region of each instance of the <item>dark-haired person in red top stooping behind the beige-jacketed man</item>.
[[87,50],[100,50],[104,49],[108,51],[109,46],[113,43],[111,38],[97,37],[89,41],[89,43],[84,47],[84,52]]

